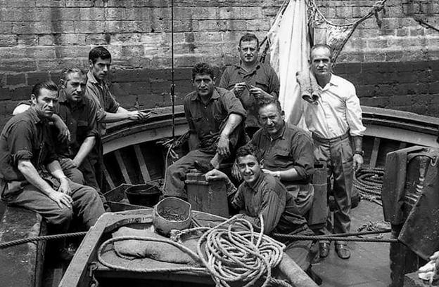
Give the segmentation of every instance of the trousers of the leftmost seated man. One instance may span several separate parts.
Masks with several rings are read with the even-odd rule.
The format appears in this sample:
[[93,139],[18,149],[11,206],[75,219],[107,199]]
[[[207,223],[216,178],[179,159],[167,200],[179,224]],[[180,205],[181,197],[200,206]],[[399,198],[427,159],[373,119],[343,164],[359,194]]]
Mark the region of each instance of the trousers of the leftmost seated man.
[[33,185],[26,184],[20,189],[13,188],[13,185],[14,182],[6,184],[2,199],[8,204],[27,208],[41,214],[54,233],[67,232],[74,215],[89,229],[104,213],[102,202],[96,190],[75,182],[70,181],[70,189],[72,189],[70,196],[73,199],[72,208],[66,206],[60,208],[55,201]]

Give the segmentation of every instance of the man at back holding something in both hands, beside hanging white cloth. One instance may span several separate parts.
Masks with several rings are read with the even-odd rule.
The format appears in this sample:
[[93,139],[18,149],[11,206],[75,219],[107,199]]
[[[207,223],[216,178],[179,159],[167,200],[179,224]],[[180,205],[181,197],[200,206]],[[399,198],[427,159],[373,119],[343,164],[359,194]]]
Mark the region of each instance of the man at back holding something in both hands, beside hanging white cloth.
[[244,34],[239,40],[238,65],[227,67],[222,74],[220,87],[232,91],[247,111],[246,132],[251,138],[259,129],[257,102],[264,98],[279,97],[279,79],[269,65],[257,60],[259,40],[254,34]]

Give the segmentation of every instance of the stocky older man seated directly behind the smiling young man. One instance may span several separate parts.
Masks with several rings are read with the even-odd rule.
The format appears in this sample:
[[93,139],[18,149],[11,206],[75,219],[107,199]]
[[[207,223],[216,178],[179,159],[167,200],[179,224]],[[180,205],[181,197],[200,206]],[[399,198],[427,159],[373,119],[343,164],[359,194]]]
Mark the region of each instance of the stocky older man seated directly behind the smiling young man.
[[[258,120],[262,128],[253,135],[250,144],[259,149],[263,171],[281,180],[293,195],[300,215],[305,215],[314,199],[312,139],[301,128],[284,121],[284,111],[276,99],[260,102]],[[239,173],[235,171],[234,175]]]

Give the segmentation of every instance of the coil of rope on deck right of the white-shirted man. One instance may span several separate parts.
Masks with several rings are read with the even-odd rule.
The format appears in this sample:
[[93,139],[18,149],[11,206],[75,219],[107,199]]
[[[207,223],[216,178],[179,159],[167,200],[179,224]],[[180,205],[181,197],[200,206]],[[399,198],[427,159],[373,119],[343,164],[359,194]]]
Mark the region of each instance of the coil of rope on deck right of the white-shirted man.
[[362,199],[367,199],[382,206],[383,176],[384,168],[362,168],[355,173],[354,188],[360,192]]

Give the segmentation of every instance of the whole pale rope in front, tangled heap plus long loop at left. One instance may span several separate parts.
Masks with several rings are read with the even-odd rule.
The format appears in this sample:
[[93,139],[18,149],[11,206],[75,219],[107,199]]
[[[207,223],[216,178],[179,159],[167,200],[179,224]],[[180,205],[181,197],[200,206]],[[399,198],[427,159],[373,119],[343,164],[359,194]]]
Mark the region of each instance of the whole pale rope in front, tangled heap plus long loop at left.
[[[229,283],[245,282],[244,287],[253,286],[253,284],[264,278],[262,287],[274,284],[276,286],[291,286],[285,281],[279,281],[272,278],[271,270],[282,260],[285,245],[263,234],[264,229],[262,215],[260,216],[261,231],[255,233],[253,226],[248,220],[235,215],[233,218],[222,222],[213,228],[196,227],[186,229],[174,234],[175,239],[179,239],[183,234],[205,231],[198,240],[197,253],[186,248],[181,243],[169,239],[153,239],[138,236],[124,236],[109,239],[102,243],[98,248],[98,261],[102,265],[118,270],[136,271],[142,273],[149,272],[209,272],[216,285],[219,287],[229,287]],[[227,226],[227,229],[224,227]],[[246,231],[234,231],[238,227],[248,228]],[[102,258],[102,251],[106,246],[123,240],[141,240],[141,241],[159,241],[169,243],[182,251],[188,253],[202,267],[172,267],[172,268],[155,268],[155,269],[135,269],[120,265],[113,265]],[[203,244],[204,248],[202,247]],[[204,252],[203,252],[204,251]]]

